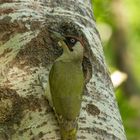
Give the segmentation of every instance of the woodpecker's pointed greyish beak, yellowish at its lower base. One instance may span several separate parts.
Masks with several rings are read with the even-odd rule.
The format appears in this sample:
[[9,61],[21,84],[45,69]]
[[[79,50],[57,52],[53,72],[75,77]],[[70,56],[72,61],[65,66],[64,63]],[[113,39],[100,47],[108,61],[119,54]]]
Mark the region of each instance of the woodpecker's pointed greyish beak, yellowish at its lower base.
[[63,35],[61,35],[59,32],[56,32],[56,31],[53,31],[53,30],[49,30],[50,34],[51,34],[51,37],[58,41],[58,45],[62,48],[65,48],[67,47],[64,40],[65,40],[65,37]]

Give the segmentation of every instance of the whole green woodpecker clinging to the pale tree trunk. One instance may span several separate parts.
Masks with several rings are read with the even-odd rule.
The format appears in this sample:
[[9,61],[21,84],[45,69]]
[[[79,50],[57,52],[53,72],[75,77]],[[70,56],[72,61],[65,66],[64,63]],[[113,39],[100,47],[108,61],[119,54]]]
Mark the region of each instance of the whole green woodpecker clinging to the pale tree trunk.
[[77,140],[77,121],[84,88],[84,48],[76,37],[64,37],[59,33],[55,33],[55,36],[59,40],[59,46],[63,48],[63,53],[50,70],[50,94],[47,96],[56,113],[62,140]]

